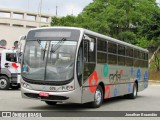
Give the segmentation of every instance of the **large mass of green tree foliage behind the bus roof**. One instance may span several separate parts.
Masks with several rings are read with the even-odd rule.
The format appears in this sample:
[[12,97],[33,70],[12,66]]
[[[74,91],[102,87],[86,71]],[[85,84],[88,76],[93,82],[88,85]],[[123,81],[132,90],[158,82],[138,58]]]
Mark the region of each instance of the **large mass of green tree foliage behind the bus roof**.
[[77,17],[53,17],[51,25],[82,27],[144,48],[160,43],[156,0],[93,0]]

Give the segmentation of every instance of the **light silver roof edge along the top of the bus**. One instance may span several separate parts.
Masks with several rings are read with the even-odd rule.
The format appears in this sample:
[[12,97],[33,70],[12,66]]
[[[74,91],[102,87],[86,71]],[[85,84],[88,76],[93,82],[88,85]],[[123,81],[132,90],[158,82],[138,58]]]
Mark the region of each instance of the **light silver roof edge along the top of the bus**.
[[115,38],[112,38],[112,37],[109,37],[109,36],[106,36],[106,35],[103,35],[103,34],[100,34],[100,33],[97,33],[97,32],[93,32],[93,31],[91,31],[91,30],[87,30],[87,29],[84,29],[84,28],[54,26],[54,27],[34,28],[34,29],[31,29],[31,30],[53,29],[53,28],[56,28],[56,29],[75,29],[75,30],[80,30],[81,32],[86,33],[86,34],[90,34],[90,35],[93,35],[93,36],[97,36],[97,37],[102,38],[102,39],[107,39],[108,41],[116,42],[116,43],[119,43],[119,44],[122,44],[122,45],[125,45],[125,46],[128,46],[128,47],[132,47],[132,48],[135,48],[135,49],[138,49],[138,50],[142,50],[142,51],[148,52],[147,49],[144,49],[144,48],[141,48],[141,47],[138,47],[138,46],[129,44],[129,43],[127,43],[127,42],[120,41],[120,40],[118,40],[118,39],[115,39]]

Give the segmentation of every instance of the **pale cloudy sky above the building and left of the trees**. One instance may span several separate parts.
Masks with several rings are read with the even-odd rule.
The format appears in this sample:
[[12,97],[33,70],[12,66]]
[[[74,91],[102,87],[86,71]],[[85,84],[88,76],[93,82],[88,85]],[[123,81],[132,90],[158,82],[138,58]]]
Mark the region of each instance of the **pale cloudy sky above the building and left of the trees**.
[[[41,0],[0,0],[0,8],[12,8],[23,11],[40,11]],[[78,15],[93,0],[42,0],[42,13],[58,16]]]

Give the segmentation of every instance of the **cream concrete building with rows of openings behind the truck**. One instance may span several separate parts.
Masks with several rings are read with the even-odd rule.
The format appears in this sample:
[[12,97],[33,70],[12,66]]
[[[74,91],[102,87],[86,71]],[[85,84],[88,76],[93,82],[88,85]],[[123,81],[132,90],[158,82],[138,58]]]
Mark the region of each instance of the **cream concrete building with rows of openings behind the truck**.
[[20,36],[32,28],[50,26],[52,16],[13,9],[0,9],[0,47],[6,41],[6,49],[12,49]]

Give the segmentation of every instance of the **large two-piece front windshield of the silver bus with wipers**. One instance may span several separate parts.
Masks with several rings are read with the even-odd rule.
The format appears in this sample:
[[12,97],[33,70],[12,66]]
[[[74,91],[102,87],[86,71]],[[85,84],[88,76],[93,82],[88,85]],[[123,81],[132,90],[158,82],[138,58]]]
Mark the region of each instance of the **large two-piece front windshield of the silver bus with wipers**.
[[22,76],[30,80],[67,81],[73,79],[77,41],[29,40],[24,51]]

